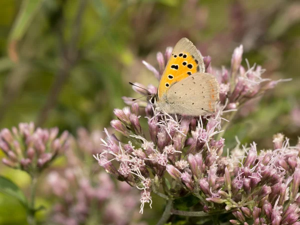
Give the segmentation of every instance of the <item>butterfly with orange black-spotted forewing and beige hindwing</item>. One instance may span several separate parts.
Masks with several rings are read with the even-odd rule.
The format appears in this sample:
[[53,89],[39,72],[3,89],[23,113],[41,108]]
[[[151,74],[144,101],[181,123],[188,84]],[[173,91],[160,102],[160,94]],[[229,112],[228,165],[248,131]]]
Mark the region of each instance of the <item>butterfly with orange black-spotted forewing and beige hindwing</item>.
[[157,93],[147,95],[147,100],[171,114],[199,116],[215,111],[219,84],[212,74],[205,73],[203,57],[190,40],[183,37],[176,43]]

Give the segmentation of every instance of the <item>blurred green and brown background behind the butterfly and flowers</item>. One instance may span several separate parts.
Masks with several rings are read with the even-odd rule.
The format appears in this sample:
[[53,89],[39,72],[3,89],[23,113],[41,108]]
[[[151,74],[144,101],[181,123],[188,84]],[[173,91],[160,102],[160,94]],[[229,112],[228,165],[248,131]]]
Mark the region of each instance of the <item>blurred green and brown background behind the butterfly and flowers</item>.
[[[113,108],[124,106],[121,96],[138,96],[128,81],[157,85],[141,60],[157,66],[156,52],[181,37],[210,55],[213,66],[229,67],[233,49],[243,44],[243,57],[262,65],[265,78],[293,79],[241,109],[225,134],[227,147],[236,135],[268,148],[276,132],[296,142],[296,0],[1,0],[0,128],[34,121],[75,134],[79,126],[108,126]],[[22,172],[1,165],[0,173],[28,184]],[[0,224],[13,224],[22,210],[0,195]]]

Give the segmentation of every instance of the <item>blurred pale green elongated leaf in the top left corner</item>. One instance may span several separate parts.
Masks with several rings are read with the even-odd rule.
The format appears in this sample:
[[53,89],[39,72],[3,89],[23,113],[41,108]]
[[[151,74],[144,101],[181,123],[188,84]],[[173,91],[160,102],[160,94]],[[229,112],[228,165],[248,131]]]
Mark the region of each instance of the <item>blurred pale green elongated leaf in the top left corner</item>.
[[35,14],[39,11],[42,0],[23,0],[13,27],[10,31],[10,40],[19,40],[23,37]]

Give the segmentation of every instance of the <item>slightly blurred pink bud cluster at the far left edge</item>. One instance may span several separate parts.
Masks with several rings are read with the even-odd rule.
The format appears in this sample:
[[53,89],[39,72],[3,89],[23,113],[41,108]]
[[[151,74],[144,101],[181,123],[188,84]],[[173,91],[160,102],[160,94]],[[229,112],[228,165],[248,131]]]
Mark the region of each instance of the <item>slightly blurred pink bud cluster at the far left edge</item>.
[[58,128],[35,129],[33,122],[19,123],[11,131],[0,131],[0,149],[6,157],[2,162],[12,168],[21,169],[33,175],[45,168],[58,154],[68,146],[68,132],[60,136]]

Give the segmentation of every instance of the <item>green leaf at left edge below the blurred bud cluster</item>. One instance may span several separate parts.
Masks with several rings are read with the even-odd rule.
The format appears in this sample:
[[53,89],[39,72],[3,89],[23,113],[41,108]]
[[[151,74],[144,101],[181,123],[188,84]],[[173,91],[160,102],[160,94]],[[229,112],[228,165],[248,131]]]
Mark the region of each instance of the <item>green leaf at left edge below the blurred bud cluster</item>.
[[25,208],[27,208],[27,200],[24,193],[15,183],[4,176],[0,176],[0,192],[15,197]]

